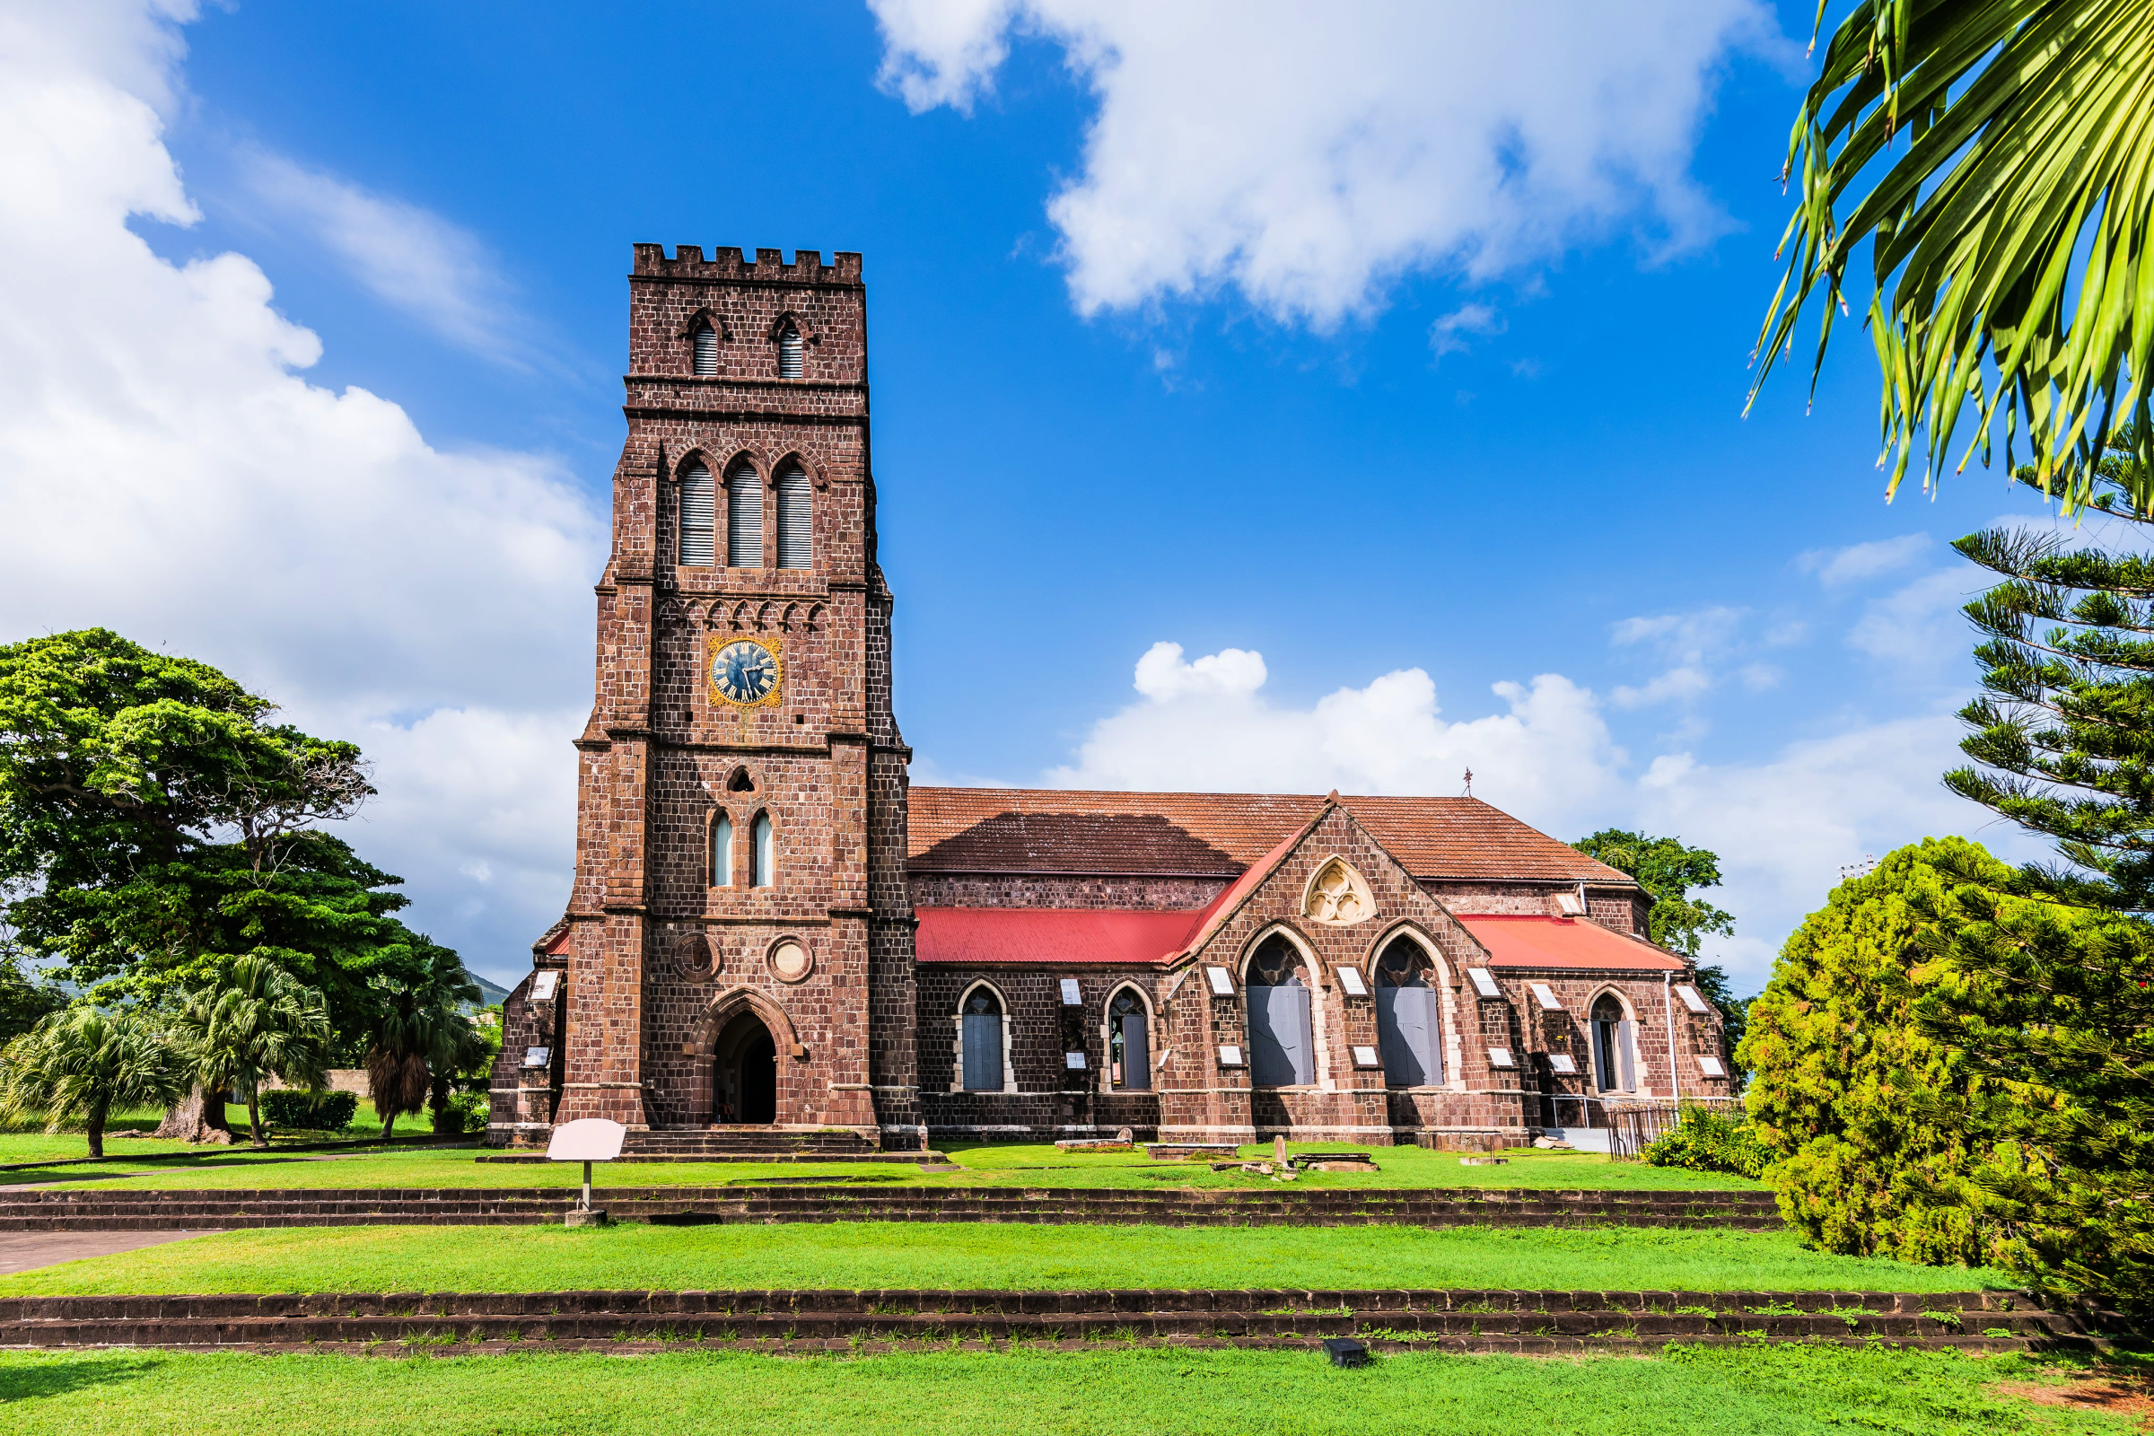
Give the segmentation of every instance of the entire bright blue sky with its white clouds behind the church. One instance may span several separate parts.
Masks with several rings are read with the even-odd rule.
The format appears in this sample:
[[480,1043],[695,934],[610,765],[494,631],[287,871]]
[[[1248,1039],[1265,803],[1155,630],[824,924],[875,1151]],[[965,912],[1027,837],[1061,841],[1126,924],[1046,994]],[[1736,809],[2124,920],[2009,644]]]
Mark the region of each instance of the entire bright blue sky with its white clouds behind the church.
[[1812,413],[1801,368],[1740,413],[1807,9],[1198,9],[17,13],[6,633],[364,743],[355,842],[510,980],[567,883],[629,243],[862,250],[915,782],[1471,764],[1562,837],[1715,846],[1745,988],[1840,863],[1975,831],[1945,543],[2038,508],[1887,506],[1855,327]]

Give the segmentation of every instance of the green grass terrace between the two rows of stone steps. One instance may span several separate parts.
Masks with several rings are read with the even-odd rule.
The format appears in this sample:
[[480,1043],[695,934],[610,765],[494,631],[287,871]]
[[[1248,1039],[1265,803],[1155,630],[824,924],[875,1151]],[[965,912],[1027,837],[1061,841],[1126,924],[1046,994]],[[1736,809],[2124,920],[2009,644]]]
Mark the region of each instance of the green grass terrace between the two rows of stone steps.
[[1969,1292],[2001,1272],[1669,1227],[271,1227],[0,1277],[0,1296],[739,1287]]

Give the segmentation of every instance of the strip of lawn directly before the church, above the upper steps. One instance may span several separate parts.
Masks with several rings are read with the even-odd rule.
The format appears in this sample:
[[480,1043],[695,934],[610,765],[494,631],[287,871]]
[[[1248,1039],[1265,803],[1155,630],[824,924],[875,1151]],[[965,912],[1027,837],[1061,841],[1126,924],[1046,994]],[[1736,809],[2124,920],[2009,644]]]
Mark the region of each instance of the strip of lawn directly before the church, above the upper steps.
[[[4,1143],[0,1137],[0,1160]],[[1290,1148],[1305,1152],[1325,1145]],[[1335,1145],[1331,1148],[1335,1150]],[[1269,1156],[1271,1148],[1243,1148]],[[1284,1182],[1243,1171],[1213,1171],[1204,1163],[1155,1163],[1144,1152],[1068,1154],[1049,1145],[976,1143],[948,1148],[961,1167],[952,1173],[920,1171],[909,1163],[610,1163],[601,1186],[728,1186],[771,1178],[847,1178],[862,1184],[903,1186],[1206,1186],[1284,1188]],[[480,1163],[478,1152],[383,1152],[338,1160],[276,1160],[246,1148],[209,1148],[187,1163],[159,1163],[151,1175],[129,1165],[125,1150],[106,1148],[97,1167],[26,1173],[22,1180],[65,1180],[69,1186],[127,1186],[140,1191],[254,1188],[254,1186],[575,1186],[575,1163]],[[1379,1171],[1312,1171],[1292,1186],[1478,1186],[1478,1188],[1609,1188],[1609,1191],[1762,1191],[1760,1182],[1710,1171],[1611,1163],[1592,1152],[1519,1152],[1506,1167],[1463,1167],[1456,1152],[1379,1148]],[[215,1167],[202,1171],[200,1167]]]

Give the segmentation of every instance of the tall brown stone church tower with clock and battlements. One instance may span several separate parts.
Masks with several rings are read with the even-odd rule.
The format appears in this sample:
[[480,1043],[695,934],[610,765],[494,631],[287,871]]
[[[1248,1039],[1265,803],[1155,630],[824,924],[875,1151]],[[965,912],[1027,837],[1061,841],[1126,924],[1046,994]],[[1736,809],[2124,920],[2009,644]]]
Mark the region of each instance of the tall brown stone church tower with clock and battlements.
[[554,1122],[918,1145],[859,254],[635,245],[625,383]]

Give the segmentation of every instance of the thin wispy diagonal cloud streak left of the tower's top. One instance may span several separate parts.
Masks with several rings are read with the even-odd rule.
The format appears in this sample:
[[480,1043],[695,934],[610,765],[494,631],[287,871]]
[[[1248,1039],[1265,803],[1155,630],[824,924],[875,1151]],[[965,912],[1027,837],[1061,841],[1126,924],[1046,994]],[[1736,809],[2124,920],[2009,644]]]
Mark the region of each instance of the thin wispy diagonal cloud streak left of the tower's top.
[[541,357],[500,258],[442,215],[282,155],[250,151],[254,198],[345,263],[377,299],[482,360],[526,368]]

